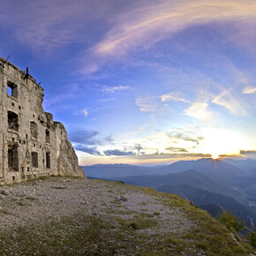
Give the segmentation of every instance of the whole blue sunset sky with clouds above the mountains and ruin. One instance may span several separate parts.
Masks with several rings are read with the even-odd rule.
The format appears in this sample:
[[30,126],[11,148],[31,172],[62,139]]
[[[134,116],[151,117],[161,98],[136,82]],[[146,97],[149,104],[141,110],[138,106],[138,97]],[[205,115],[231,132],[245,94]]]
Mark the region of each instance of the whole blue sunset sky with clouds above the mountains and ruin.
[[81,165],[256,158],[255,0],[0,0],[0,56]]

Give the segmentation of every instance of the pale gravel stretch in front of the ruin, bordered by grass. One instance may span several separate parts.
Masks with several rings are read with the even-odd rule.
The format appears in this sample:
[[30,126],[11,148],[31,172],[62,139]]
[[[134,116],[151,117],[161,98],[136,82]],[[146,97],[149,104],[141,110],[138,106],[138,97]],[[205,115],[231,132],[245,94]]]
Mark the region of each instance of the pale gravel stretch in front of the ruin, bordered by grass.
[[[158,225],[154,232],[180,232],[193,225],[178,208],[169,209],[158,197],[124,184],[100,180],[50,177],[0,187],[0,229],[11,230],[27,222],[83,211],[87,215],[131,218],[132,214],[152,215]],[[182,225],[181,225],[182,223]],[[151,230],[153,232],[153,230]]]

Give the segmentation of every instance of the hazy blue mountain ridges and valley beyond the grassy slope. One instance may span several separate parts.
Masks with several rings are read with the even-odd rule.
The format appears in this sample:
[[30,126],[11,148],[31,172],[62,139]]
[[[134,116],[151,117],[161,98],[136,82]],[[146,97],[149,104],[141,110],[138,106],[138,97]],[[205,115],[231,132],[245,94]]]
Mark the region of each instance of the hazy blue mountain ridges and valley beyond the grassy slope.
[[247,230],[256,223],[256,161],[179,161],[165,166],[141,167],[127,164],[86,166],[88,177],[122,181],[158,192],[175,193],[213,217],[229,211],[245,222]]

